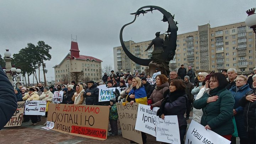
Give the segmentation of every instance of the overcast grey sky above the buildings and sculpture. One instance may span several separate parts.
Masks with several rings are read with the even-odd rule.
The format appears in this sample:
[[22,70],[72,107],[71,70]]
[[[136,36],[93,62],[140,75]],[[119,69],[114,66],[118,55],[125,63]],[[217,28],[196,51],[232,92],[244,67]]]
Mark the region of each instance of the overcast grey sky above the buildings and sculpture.
[[[0,54],[5,49],[12,54],[27,46],[44,41],[52,47],[52,59],[46,61],[47,77],[54,76],[71,45],[71,34],[77,36],[81,55],[112,65],[113,47],[121,46],[121,27],[133,20],[140,7],[160,6],[178,21],[178,34],[197,31],[197,26],[211,27],[245,21],[246,10],[256,6],[255,0],[0,0]],[[139,15],[124,28],[124,41],[153,39],[155,32],[167,31],[168,24],[160,21],[162,14],[153,11]],[[29,52],[27,52],[29,54]],[[22,68],[21,68],[22,69]],[[43,78],[41,76],[41,78]],[[47,78],[51,80],[52,78]]]

